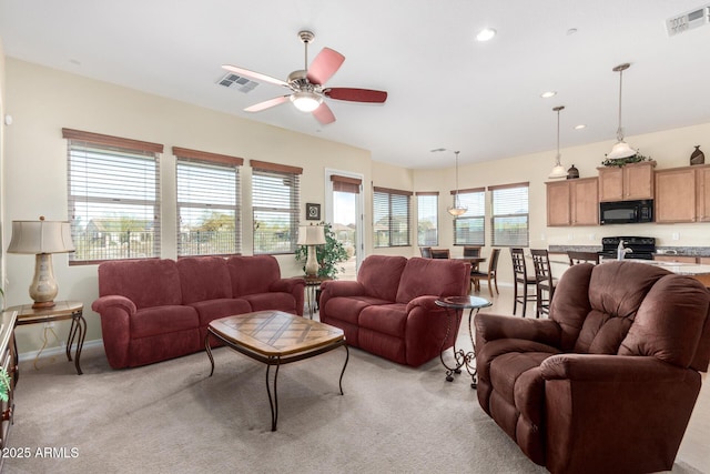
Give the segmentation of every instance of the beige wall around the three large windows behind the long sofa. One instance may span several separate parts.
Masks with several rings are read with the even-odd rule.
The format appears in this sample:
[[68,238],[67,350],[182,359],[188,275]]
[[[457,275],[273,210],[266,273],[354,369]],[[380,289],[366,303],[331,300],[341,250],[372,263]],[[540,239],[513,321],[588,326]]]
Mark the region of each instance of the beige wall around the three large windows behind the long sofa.
[[[325,168],[361,173],[371,181],[372,161],[366,150],[293,133],[233,115],[186,103],[145,94],[114,84],[47,69],[7,58],[7,110],[14,123],[7,127],[4,180],[2,182],[6,222],[67,220],[67,142],[61,129],[71,128],[97,133],[162,143],[161,158],[162,222],[175,229],[175,175],[171,147],[184,147],[214,153],[242,157],[243,204],[251,208],[251,169],[248,160],[262,160],[302,167],[302,202],[324,202]],[[302,211],[303,212],[303,211]],[[248,213],[247,213],[248,214]],[[365,235],[369,235],[366,222]],[[10,230],[3,229],[6,241]],[[175,234],[162,234],[163,256],[176,254]],[[366,239],[366,249],[371,240]],[[243,220],[243,253],[252,253],[252,223]],[[28,302],[28,285],[34,262],[31,255],[7,254],[9,305]],[[98,297],[97,266],[69,266],[65,254],[57,254],[54,273],[60,290],[58,299],[84,302],[87,340],[101,337],[100,320],[90,310]],[[293,255],[278,256],[285,276],[301,273]],[[57,331],[65,336],[65,325]],[[40,325],[18,330],[21,353],[41,347]],[[50,339],[49,345],[58,345]]]

